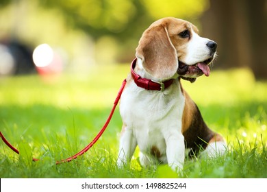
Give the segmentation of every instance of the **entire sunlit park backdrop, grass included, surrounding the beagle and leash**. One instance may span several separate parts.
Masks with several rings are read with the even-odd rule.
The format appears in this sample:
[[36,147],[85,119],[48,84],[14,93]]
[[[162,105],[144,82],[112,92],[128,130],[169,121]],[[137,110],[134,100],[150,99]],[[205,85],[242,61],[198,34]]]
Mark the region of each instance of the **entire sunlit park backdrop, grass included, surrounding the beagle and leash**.
[[[88,159],[58,169],[52,162],[99,132],[142,32],[165,16],[194,23],[218,43],[212,75],[182,84],[229,154],[211,164],[190,160],[184,176],[264,178],[267,0],[0,0],[0,130],[25,154],[0,142],[0,177],[146,177],[147,170],[114,169],[119,112]],[[43,163],[23,160],[25,149]],[[134,158],[137,165],[138,151]]]

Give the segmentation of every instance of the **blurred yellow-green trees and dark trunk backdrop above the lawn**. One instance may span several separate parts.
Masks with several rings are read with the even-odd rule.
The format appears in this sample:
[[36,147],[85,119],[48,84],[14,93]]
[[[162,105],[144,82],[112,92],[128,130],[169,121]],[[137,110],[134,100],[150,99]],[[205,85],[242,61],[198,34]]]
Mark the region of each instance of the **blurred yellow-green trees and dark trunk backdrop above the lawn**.
[[0,0],[0,76],[129,64],[144,29],[164,16],[218,43],[214,69],[267,78],[266,0]]

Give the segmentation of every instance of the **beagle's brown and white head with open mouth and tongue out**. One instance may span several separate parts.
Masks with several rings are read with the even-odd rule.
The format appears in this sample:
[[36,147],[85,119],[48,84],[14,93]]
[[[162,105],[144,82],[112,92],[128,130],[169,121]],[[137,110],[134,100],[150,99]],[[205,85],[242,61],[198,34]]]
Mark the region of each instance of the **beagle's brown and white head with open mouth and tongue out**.
[[147,73],[158,80],[177,76],[194,82],[209,76],[209,64],[216,56],[217,44],[199,36],[188,21],[172,17],[160,19],[144,31],[136,48]]

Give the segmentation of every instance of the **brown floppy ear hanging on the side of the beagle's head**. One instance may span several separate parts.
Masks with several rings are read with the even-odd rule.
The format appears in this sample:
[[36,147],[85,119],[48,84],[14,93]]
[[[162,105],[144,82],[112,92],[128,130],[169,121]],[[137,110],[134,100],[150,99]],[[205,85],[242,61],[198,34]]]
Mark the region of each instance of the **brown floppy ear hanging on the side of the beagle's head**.
[[178,69],[177,52],[164,25],[149,27],[140,38],[136,57],[144,69],[159,80],[173,77]]

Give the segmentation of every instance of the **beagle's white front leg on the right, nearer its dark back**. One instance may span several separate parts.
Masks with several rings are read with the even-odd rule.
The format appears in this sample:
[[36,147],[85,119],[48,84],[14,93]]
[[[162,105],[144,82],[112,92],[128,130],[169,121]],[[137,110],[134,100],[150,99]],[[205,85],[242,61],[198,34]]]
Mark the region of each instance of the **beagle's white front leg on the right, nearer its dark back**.
[[174,171],[183,169],[185,158],[185,145],[183,134],[177,132],[170,133],[166,138],[166,155],[168,165]]

